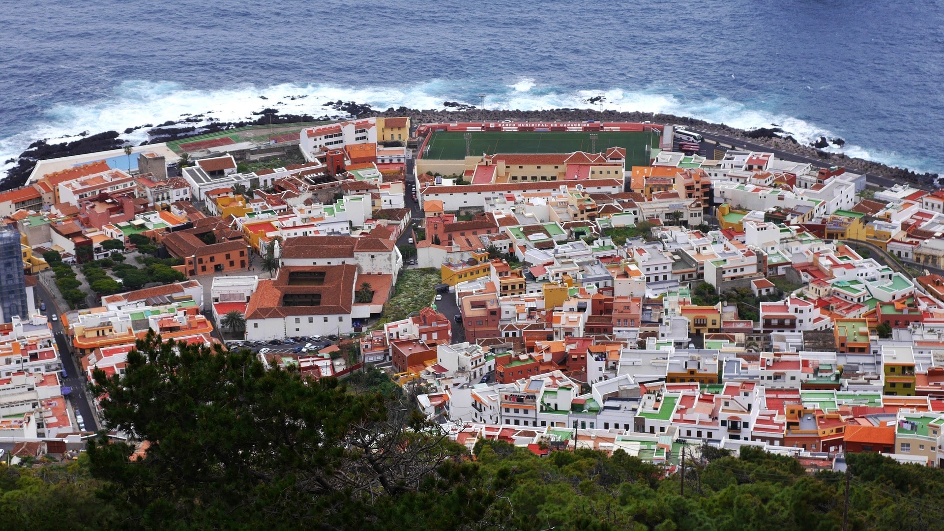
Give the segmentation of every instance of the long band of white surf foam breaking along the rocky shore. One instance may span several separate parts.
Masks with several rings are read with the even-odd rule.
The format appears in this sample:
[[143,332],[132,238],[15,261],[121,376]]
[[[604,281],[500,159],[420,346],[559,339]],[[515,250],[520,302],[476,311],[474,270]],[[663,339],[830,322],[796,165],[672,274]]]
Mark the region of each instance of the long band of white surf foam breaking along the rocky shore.
[[[479,97],[480,94],[484,97]],[[266,99],[261,99],[260,96]],[[292,96],[295,96],[294,100],[291,99]],[[602,100],[590,104],[589,100],[595,96],[602,96]],[[69,142],[79,138],[78,135],[85,131],[124,131],[126,128],[144,124],[157,126],[169,120],[179,120],[195,114],[206,114],[224,122],[241,121],[254,118],[251,114],[253,111],[265,108],[277,108],[280,112],[294,114],[308,113],[312,116],[335,115],[338,112],[325,104],[337,100],[366,103],[381,111],[401,106],[413,109],[443,109],[444,101],[459,100],[495,110],[593,108],[661,112],[691,116],[733,128],[765,128],[770,127],[770,124],[779,124],[786,134],[792,135],[802,144],[813,142],[820,136],[837,136],[829,129],[810,122],[750,109],[723,97],[692,102],[654,89],[564,91],[540,86],[531,78],[521,78],[510,85],[497,85],[491,90],[481,87],[471,89],[442,79],[432,79],[409,86],[341,87],[286,83],[268,87],[245,85],[212,91],[189,89],[173,82],[135,80],[122,83],[107,99],[83,105],[57,105],[45,111],[31,127],[0,139],[0,163],[17,157],[26,146],[40,139]],[[145,129],[138,129],[129,134],[122,134],[120,138],[140,144],[147,139],[147,134]],[[854,144],[846,144],[841,149],[829,147],[827,150],[841,151],[851,157],[911,167],[916,171],[935,171],[921,169],[926,162],[909,160],[901,153],[867,149]],[[0,169],[6,170],[8,167],[9,164],[5,164]]]

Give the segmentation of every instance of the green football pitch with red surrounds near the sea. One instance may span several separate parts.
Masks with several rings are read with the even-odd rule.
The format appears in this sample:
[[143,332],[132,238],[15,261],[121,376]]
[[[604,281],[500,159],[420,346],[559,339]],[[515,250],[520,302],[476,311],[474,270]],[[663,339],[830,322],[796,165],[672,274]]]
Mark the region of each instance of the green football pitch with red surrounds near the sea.
[[[422,159],[458,160],[465,157],[462,131],[433,131],[420,155]],[[474,131],[469,155],[482,153],[571,153],[591,151],[590,132],[566,131]],[[598,131],[597,152],[610,147],[626,148],[626,166],[649,165],[647,146],[658,146],[659,135],[651,131]]]

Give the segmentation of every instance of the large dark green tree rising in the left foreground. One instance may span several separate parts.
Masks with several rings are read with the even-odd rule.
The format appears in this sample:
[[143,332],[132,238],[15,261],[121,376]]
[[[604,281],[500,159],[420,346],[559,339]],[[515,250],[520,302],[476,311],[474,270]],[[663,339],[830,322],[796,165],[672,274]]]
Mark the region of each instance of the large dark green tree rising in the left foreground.
[[125,442],[89,447],[126,527],[387,529],[430,509],[442,528],[458,524],[454,509],[423,507],[458,503],[449,492],[475,468],[449,461],[457,449],[404,403],[154,334],[125,375],[93,379],[105,425],[150,442],[142,460]]

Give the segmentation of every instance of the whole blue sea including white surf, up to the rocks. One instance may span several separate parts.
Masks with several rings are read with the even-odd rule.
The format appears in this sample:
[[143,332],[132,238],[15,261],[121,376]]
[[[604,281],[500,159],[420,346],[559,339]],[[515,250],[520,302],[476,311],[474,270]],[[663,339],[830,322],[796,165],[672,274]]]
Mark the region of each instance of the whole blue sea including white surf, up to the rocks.
[[604,95],[598,109],[777,124],[944,173],[940,0],[22,0],[0,27],[0,163],[39,138],[186,113],[587,108]]

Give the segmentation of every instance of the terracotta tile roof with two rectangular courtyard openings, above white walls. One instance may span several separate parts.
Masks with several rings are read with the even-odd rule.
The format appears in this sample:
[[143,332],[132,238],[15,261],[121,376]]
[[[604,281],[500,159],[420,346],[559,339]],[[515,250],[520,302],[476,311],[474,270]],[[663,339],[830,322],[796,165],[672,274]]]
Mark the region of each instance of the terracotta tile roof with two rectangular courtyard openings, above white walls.
[[[292,285],[294,272],[324,272],[325,278],[320,285]],[[357,266],[283,266],[278,270],[278,278],[262,280],[256,292],[249,298],[245,309],[246,319],[264,319],[288,316],[323,316],[350,314],[354,300],[354,282],[357,279]],[[317,306],[282,306],[285,295],[304,294],[321,295]]]

